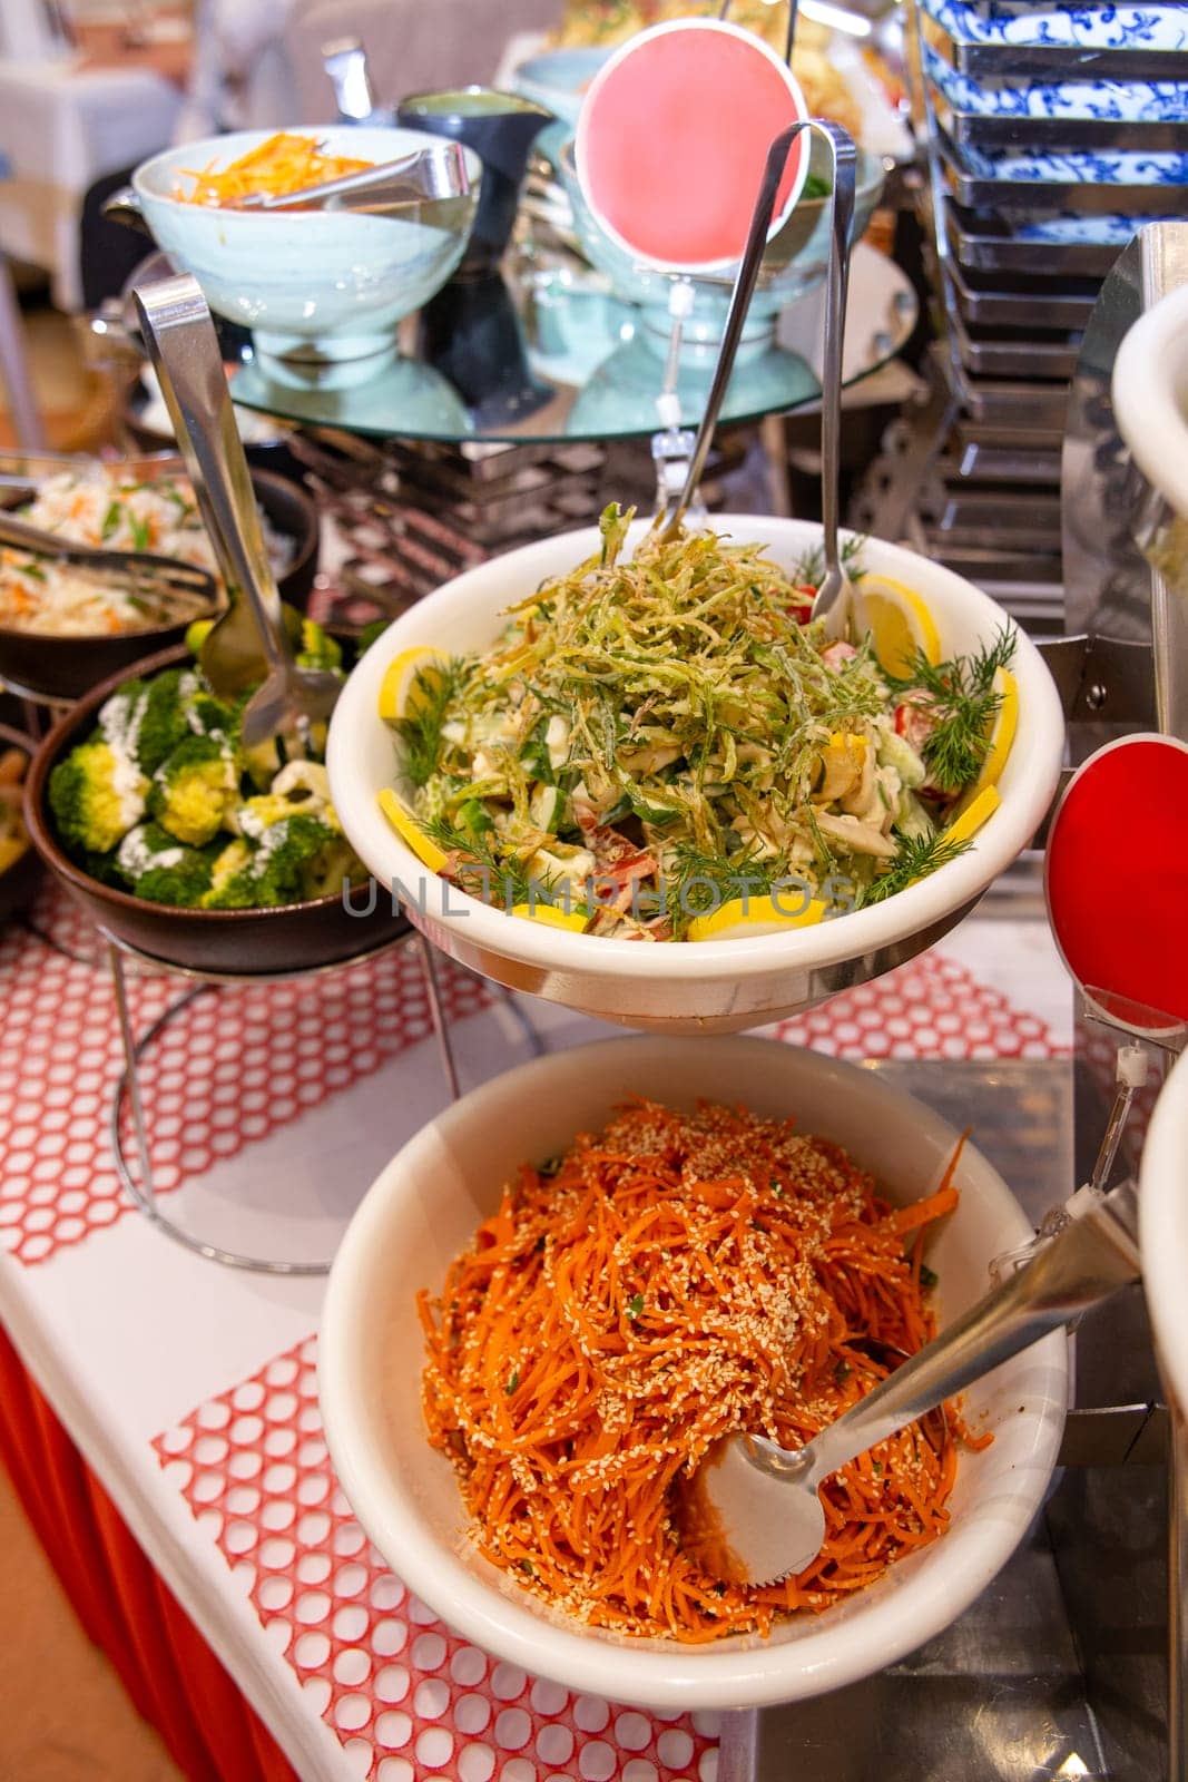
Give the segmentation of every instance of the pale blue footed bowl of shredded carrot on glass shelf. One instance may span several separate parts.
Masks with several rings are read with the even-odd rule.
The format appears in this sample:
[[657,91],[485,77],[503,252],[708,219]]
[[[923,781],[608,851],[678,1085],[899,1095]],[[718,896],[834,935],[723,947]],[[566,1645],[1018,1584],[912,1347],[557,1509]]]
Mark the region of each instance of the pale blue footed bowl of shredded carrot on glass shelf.
[[[271,134],[239,130],[185,143],[137,168],[132,185],[157,244],[194,274],[212,310],[256,330],[258,351],[273,360],[317,365],[394,353],[397,321],[426,303],[463,257],[477,205],[477,155],[465,151],[467,198],[422,205],[408,219],[328,210],[269,216],[173,196],[189,171],[208,162],[224,168]],[[420,130],[331,125],[308,134],[328,153],[376,162],[440,146],[440,137]]]

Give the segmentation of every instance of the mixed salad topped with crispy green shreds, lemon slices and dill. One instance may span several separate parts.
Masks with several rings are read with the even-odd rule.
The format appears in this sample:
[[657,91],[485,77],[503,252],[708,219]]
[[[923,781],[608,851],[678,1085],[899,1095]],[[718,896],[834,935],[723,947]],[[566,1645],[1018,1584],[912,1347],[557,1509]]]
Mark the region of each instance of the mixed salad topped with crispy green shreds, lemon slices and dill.
[[969,846],[1015,722],[1013,634],[940,661],[919,597],[864,576],[853,634],[712,533],[602,549],[509,613],[483,656],[406,652],[381,715],[436,871],[517,914],[618,939],[716,939],[882,900]]

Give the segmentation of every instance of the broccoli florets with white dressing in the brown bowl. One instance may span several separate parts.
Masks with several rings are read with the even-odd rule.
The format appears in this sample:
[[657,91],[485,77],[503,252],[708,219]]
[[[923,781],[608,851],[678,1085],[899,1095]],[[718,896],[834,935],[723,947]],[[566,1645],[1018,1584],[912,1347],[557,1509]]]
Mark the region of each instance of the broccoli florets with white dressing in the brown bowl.
[[[342,650],[299,620],[297,661],[340,670]],[[191,627],[198,645],[207,625]],[[103,884],[183,909],[262,909],[328,896],[363,868],[342,836],[322,764],[306,743],[246,748],[251,691],[217,699],[196,666],[125,681],[85,741],[59,761],[48,800],[69,857]]]

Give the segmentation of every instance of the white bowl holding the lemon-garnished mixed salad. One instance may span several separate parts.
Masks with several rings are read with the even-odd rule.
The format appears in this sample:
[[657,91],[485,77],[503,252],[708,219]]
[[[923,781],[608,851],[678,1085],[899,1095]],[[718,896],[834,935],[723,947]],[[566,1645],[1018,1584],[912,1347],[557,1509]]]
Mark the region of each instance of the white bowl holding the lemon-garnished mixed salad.
[[[632,538],[645,526],[639,520]],[[741,515],[714,515],[714,529],[768,545],[789,568],[821,536],[819,526],[807,520]],[[433,877],[376,804],[381,788],[399,779],[395,741],[378,715],[385,668],[413,645],[454,654],[486,649],[508,606],[545,577],[574,568],[597,544],[595,527],[563,533],[438,588],[372,643],[335,709],[326,759],[342,825],[360,859],[383,886],[401,887],[410,918],[443,952],[499,984],[606,1021],[664,1032],[736,1032],[807,1009],[932,946],[1028,845],[1060,777],[1063,718],[1051,675],[1021,633],[1013,663],[1019,729],[999,781],[1001,807],[969,854],[885,903],[791,934],[652,946],[524,921]],[[971,583],[898,545],[869,540],[864,560],[871,570],[919,590],[946,654],[969,650],[1010,622]]]

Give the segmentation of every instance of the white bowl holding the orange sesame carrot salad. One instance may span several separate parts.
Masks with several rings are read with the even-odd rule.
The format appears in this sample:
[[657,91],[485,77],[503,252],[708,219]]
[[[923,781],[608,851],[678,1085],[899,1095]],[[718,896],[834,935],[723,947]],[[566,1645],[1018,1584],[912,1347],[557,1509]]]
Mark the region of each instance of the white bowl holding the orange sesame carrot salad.
[[[484,1652],[572,1689],[648,1707],[732,1709],[793,1702],[855,1682],[923,1645],[990,1582],[1037,1513],[1056,1459],[1067,1395],[1063,1333],[1044,1338],[965,1395],[974,1427],[953,1522],[871,1590],[768,1641],[711,1647],[625,1639],[554,1616],[465,1540],[454,1472],[426,1438],[415,1294],[436,1288],[524,1160],[556,1155],[631,1094],[689,1108],[696,1098],[796,1116],[875,1171],[889,1199],[935,1189],[956,1133],[873,1073],[762,1039],[618,1039],[499,1076],[431,1121],[388,1164],[354,1214],[322,1313],[319,1388],[342,1488],[369,1536],[419,1597]],[[958,1210],[930,1246],[940,1320],[980,1297],[987,1265],[1031,1224],[985,1158],[965,1146]]]

